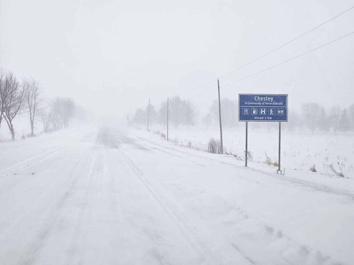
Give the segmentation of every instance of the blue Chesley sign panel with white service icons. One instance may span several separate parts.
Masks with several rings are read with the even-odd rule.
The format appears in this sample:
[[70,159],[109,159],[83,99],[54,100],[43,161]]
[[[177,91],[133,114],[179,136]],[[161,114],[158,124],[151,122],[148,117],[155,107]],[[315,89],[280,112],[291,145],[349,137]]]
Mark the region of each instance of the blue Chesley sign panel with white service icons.
[[287,96],[239,94],[239,121],[287,122]]

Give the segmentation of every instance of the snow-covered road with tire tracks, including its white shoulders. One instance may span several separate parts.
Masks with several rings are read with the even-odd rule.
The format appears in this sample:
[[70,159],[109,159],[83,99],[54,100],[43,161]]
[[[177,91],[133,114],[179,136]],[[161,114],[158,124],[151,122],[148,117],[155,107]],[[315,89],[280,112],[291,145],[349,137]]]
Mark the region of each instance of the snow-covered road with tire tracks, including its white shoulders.
[[354,262],[353,187],[247,169],[124,128],[0,152],[0,264]]

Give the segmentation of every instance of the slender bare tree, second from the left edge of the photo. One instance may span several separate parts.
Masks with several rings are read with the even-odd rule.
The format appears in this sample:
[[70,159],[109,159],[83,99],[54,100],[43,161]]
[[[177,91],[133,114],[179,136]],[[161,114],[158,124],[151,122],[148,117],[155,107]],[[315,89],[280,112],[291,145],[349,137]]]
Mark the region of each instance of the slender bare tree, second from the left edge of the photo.
[[29,119],[31,123],[31,136],[34,135],[34,118],[37,112],[41,111],[44,98],[42,97],[43,89],[40,87],[39,81],[35,79],[24,79],[22,87],[25,91],[26,104],[29,111]]

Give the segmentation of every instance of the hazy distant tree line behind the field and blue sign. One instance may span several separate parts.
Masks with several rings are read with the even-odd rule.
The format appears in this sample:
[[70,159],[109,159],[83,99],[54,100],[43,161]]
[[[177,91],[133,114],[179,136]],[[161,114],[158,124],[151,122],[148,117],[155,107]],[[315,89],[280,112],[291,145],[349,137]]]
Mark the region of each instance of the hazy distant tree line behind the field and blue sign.
[[[147,124],[148,107],[145,110],[139,108],[134,116],[127,114],[127,122],[138,125]],[[182,100],[179,96],[175,96],[169,100],[169,119],[171,124],[178,128],[180,125],[193,126],[195,124],[203,124],[205,129],[210,126],[219,124],[219,105],[215,100],[209,107],[208,112],[197,120],[195,107],[189,100]],[[223,129],[235,129],[240,125],[238,121],[238,101],[229,98],[221,100],[221,114]],[[312,133],[316,130],[323,133],[330,131],[336,134],[338,131],[346,133],[354,130],[354,104],[341,108],[340,106],[332,106],[327,109],[316,102],[303,103],[300,109],[289,110],[288,122],[285,128],[290,131],[303,133],[308,128]],[[159,110],[154,105],[150,105],[149,111],[150,123],[159,123],[166,125],[167,123],[167,100],[162,102]],[[268,131],[276,127],[276,123],[271,122],[254,122],[252,128],[264,127]]]

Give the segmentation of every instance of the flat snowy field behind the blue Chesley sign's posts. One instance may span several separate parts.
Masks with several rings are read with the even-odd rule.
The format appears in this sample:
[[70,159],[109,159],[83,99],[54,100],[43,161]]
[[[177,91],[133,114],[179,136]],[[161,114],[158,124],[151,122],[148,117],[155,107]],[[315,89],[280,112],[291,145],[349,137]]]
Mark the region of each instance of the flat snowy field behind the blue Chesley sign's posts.
[[[152,131],[166,129],[153,126]],[[281,168],[286,170],[309,171],[311,167],[319,173],[332,177],[354,177],[354,136],[333,134],[290,134],[282,130],[281,139]],[[187,130],[170,128],[169,138],[179,145],[190,146],[206,151],[209,139],[219,139],[219,130]],[[223,131],[224,149],[228,153],[245,159],[245,126],[238,131]],[[267,157],[272,162],[278,161],[278,130],[255,131],[249,124],[248,151],[251,161],[264,163]],[[333,170],[337,173],[335,173]],[[274,167],[276,170],[276,167]]]

